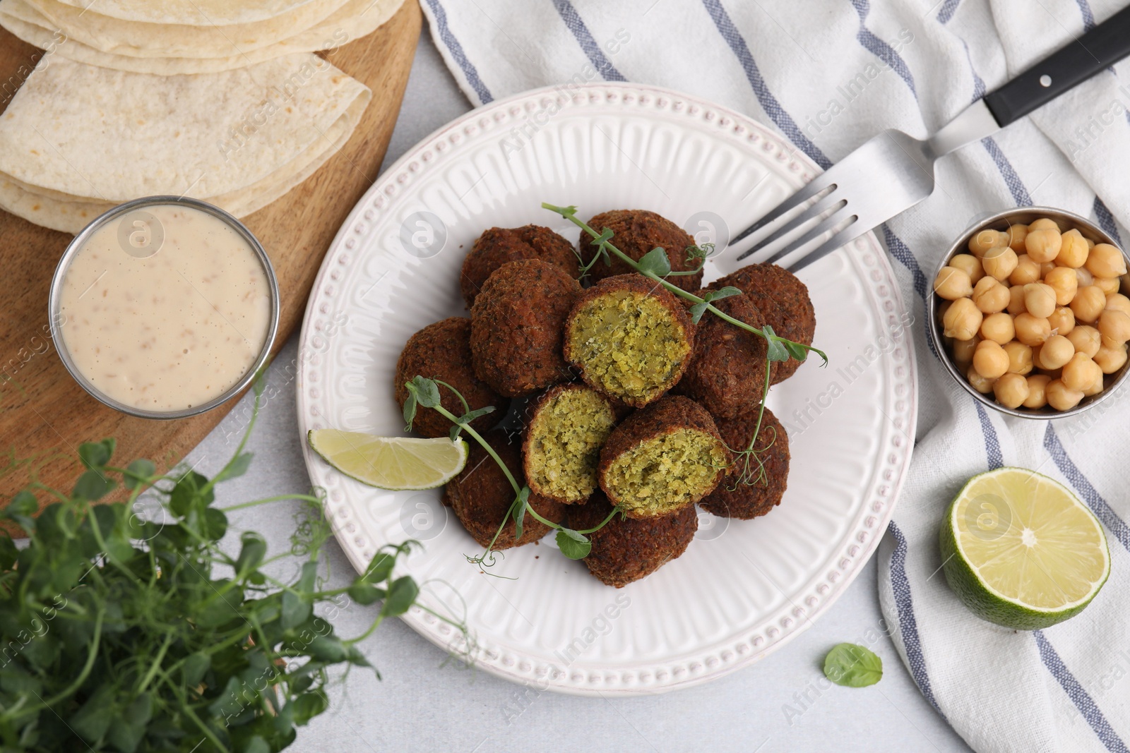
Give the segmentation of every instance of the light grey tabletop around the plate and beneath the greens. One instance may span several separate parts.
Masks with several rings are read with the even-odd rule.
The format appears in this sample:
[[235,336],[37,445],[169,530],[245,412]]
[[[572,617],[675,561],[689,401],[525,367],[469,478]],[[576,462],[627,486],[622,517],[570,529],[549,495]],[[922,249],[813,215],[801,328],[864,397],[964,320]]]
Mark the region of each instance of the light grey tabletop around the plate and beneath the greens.
[[[417,141],[467,112],[470,104],[451,78],[425,28],[416,51],[403,107],[383,167]],[[302,458],[292,374],[295,334],[271,367],[269,394],[250,440],[249,473],[218,488],[218,501],[234,504],[304,492],[310,478]],[[250,395],[186,458],[211,475],[234,450]],[[227,544],[238,531],[263,533],[273,551],[287,548],[297,507],[288,502],[233,514]],[[333,581],[351,577],[331,541]],[[284,572],[296,562],[280,562]],[[444,664],[445,655],[400,621],[384,623],[363,649],[379,667],[354,669],[334,681],[331,706],[302,729],[297,753],[426,751],[967,751],[930,708],[890,640],[876,594],[872,559],[832,608],[809,630],[758,664],[721,680],[662,695],[632,699],[538,693],[481,671]],[[334,624],[350,637],[371,623],[375,607],[353,605]],[[863,642],[883,657],[885,674],[864,689],[822,683],[823,657],[835,643]],[[822,684],[824,685],[822,688]]]

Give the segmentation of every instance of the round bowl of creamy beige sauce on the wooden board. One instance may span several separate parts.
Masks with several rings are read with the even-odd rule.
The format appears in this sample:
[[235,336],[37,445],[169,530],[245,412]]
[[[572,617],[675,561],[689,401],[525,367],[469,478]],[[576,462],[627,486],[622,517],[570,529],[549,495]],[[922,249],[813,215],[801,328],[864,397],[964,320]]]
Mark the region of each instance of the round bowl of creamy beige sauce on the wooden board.
[[279,290],[262,245],[202,201],[148,196],[71,240],[51,282],[51,334],[70,375],[147,419],[211,410],[267,362]]

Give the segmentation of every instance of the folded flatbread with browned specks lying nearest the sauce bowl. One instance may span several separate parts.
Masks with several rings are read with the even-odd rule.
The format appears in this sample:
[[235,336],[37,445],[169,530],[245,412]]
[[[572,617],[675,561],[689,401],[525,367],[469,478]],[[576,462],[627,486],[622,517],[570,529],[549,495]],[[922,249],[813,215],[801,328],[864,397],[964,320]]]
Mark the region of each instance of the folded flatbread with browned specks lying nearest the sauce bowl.
[[[287,72],[315,64],[292,88]],[[66,233],[157,194],[202,199],[244,217],[337,154],[371,98],[367,87],[308,53],[171,77],[52,60],[0,117],[0,208]],[[250,125],[225,132],[233,122]]]

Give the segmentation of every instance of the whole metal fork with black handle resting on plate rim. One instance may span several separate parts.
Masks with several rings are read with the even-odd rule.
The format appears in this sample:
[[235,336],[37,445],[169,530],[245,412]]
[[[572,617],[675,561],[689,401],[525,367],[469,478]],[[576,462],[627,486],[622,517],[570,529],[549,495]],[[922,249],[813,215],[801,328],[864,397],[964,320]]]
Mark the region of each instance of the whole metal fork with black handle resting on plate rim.
[[[1130,54],[1130,7],[985,95],[925,140],[888,129],[739,233],[738,255],[799,270],[933,192],[933,163],[991,135]],[[831,237],[829,237],[831,234]]]

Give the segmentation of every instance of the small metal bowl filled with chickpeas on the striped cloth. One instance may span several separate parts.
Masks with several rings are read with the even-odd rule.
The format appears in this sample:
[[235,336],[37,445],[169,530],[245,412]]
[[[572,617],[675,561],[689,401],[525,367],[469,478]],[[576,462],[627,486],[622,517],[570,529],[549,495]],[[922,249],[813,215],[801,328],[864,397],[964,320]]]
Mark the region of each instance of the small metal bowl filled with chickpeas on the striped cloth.
[[1127,255],[1050,207],[993,214],[942,257],[929,314],[941,361],[981,403],[1025,419],[1094,408],[1130,373]]

